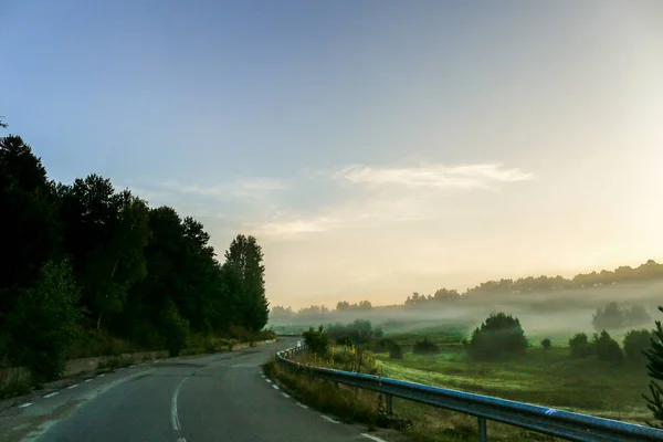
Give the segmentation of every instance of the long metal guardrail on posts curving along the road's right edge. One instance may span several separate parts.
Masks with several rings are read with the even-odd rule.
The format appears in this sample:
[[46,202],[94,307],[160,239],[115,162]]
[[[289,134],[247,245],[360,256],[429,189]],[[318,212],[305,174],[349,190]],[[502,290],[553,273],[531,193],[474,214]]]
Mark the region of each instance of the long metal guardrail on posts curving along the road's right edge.
[[305,350],[304,346],[278,351],[276,361],[320,379],[383,393],[387,398],[387,413],[389,414],[393,410],[392,398],[397,397],[475,415],[478,419],[480,442],[487,441],[486,420],[507,423],[568,441],[663,441],[663,431],[644,425],[398,379],[312,367],[291,360],[293,356],[303,350]]

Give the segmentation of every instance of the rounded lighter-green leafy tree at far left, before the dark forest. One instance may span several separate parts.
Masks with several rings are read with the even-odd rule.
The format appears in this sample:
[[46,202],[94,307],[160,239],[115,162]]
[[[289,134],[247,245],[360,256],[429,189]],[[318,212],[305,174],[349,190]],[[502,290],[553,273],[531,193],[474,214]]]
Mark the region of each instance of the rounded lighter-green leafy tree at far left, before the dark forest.
[[70,263],[49,261],[38,284],[21,293],[9,315],[3,330],[8,356],[28,367],[35,383],[64,370],[64,352],[80,332],[78,297]]

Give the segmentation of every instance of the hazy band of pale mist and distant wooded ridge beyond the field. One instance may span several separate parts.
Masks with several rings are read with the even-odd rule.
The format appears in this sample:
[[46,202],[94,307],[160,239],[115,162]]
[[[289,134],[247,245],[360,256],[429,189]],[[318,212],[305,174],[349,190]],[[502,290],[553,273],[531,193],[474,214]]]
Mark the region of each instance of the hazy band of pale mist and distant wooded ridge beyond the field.
[[[620,308],[627,311],[632,306],[643,307],[649,316],[640,318],[640,322],[636,319],[635,323],[625,322],[611,327],[619,336],[629,328],[652,328],[653,320],[659,319],[657,306],[663,304],[663,280],[660,278],[662,265],[650,261],[638,269],[644,270],[648,266],[649,274],[638,275],[638,278],[645,281],[633,281],[636,277],[632,276],[631,281],[618,282],[614,281],[614,276],[610,278],[608,272],[602,272],[578,275],[572,280],[547,278],[558,281],[561,286],[540,290],[514,290],[518,284],[523,285],[527,281],[525,278],[516,282],[502,280],[484,283],[462,295],[446,290],[428,296],[413,293],[401,305],[372,306],[369,302],[351,305],[339,302],[334,309],[311,306],[296,313],[275,307],[272,309],[270,325],[278,332],[362,318],[369,319],[373,326],[380,325],[387,334],[459,325],[465,326],[470,332],[491,313],[505,312],[519,318],[528,336],[550,335],[555,341],[556,338],[560,339],[577,332],[593,333],[597,327],[592,320],[597,309],[604,308],[610,303],[617,303]],[[600,277],[601,274],[608,282],[588,281],[587,286],[582,286],[582,277]],[[578,286],[573,287],[573,282]]]

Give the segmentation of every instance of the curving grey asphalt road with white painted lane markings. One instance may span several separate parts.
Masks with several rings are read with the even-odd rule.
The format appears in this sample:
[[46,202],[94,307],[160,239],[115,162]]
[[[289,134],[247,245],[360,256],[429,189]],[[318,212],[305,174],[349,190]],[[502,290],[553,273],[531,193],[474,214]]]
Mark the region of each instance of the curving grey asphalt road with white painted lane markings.
[[261,365],[296,339],[228,354],[162,359],[82,380],[4,413],[0,441],[368,441],[264,378]]

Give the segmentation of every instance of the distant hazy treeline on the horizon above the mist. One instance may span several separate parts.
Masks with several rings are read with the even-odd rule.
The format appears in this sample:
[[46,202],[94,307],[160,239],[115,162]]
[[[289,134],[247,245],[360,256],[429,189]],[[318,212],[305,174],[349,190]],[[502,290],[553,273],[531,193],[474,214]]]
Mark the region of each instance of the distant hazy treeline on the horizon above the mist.
[[[414,292],[411,296],[406,298],[402,306],[407,308],[429,308],[481,296],[526,295],[528,293],[560,292],[653,281],[663,281],[663,264],[649,260],[638,267],[620,266],[614,271],[603,270],[600,272],[581,273],[571,278],[565,278],[562,276],[527,276],[518,280],[503,278],[499,281],[486,281],[474,287],[467,288],[464,293],[448,288],[440,288],[434,294],[430,295]],[[371,308],[373,307],[368,301],[361,301],[358,304],[349,304],[346,301],[341,301],[337,304],[336,311],[330,311],[324,305],[312,305],[309,307],[301,308],[297,312],[294,312],[290,307],[275,306],[272,309],[272,316],[281,319],[293,318],[296,316],[319,317],[330,313],[369,312]]]

